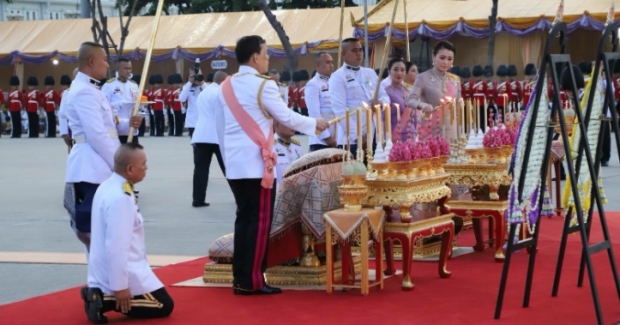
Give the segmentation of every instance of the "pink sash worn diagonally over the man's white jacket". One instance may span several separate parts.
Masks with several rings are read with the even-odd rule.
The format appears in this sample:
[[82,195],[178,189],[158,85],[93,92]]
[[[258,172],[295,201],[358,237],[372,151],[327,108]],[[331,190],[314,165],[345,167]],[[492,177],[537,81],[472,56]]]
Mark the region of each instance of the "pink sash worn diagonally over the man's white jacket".
[[273,122],[269,121],[269,137],[265,139],[263,130],[261,130],[256,121],[252,119],[243,106],[241,106],[241,103],[239,103],[239,100],[235,96],[235,92],[230,83],[230,77],[222,82],[222,94],[224,95],[226,105],[228,105],[237,123],[239,123],[250,140],[260,148],[261,156],[265,162],[265,171],[263,172],[261,186],[266,189],[271,189],[273,187],[273,180],[275,179],[273,167],[277,159],[276,154],[273,152]]

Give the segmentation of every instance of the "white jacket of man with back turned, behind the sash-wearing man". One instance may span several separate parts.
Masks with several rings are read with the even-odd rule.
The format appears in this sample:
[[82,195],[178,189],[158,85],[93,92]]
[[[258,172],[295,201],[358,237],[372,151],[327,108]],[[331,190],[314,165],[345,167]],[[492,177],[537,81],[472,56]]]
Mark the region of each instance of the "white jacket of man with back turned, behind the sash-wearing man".
[[213,143],[217,144],[217,131],[215,129],[215,105],[219,105],[217,101],[217,95],[220,90],[220,85],[217,83],[211,83],[203,90],[198,99],[196,105],[198,106],[198,123],[196,123],[196,129],[194,135],[192,135],[192,144],[194,143]]

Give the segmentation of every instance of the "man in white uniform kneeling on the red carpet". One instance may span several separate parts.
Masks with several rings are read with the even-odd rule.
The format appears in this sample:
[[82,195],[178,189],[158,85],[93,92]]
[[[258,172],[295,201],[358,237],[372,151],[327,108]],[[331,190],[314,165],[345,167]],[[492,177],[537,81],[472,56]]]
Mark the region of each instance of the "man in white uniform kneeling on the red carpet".
[[104,313],[112,310],[134,318],[158,318],[174,308],[146,260],[144,221],[133,192],[146,170],[142,146],[123,144],[114,155],[114,174],[95,193],[88,287],[81,292],[94,324],[107,323]]

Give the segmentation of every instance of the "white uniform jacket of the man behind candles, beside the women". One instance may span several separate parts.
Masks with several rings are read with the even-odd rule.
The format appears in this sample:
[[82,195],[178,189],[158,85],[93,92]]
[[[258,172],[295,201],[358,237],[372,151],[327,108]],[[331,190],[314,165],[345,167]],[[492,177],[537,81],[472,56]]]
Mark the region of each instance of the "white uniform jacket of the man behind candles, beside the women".
[[[355,68],[354,68],[355,69]],[[377,85],[377,73],[375,70],[359,67],[355,71],[343,64],[340,69],[336,70],[329,78],[329,96],[332,102],[332,111],[337,117],[342,117],[346,113],[346,109],[352,112],[359,107],[363,107],[362,102],[368,103],[375,92]],[[379,87],[379,101],[384,104],[390,103],[390,98],[385,89]],[[362,134],[366,135],[366,113],[361,114],[362,117]],[[338,123],[338,145],[346,144],[347,136],[345,119]],[[349,139],[351,144],[357,143],[356,134],[357,118],[352,114],[349,118]],[[374,121],[373,127],[374,132]]]

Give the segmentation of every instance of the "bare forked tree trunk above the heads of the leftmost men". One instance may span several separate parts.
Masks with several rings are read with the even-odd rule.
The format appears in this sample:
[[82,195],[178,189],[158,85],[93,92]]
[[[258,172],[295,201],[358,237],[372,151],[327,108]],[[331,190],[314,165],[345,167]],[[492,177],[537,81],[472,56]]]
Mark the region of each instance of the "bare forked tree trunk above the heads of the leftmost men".
[[[101,0],[88,0],[88,5],[90,8],[90,16],[93,21],[93,24],[90,28],[93,33],[93,41],[95,41],[96,43],[100,43],[103,46],[106,54],[108,55],[108,58],[110,57],[110,48],[114,49],[117,56],[122,55],[125,46],[125,40],[129,35],[129,24],[131,23],[131,19],[133,18],[133,16],[135,16],[136,14],[138,0],[124,0],[124,2],[121,2],[121,0],[117,0],[116,2],[119,16],[118,19],[121,25],[121,39],[118,45],[115,43],[114,39],[108,31],[108,17],[103,14]],[[128,12],[126,14],[126,21],[123,21],[123,5],[126,5],[128,9]]]

